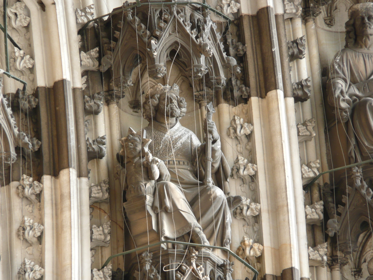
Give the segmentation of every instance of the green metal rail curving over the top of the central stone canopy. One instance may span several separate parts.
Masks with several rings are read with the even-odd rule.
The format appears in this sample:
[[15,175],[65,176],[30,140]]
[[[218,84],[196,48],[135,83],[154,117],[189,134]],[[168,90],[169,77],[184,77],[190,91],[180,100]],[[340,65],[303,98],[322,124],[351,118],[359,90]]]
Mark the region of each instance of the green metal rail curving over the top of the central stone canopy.
[[228,29],[229,29],[229,26],[232,23],[232,20],[228,16],[224,15],[223,13],[219,12],[218,10],[216,10],[216,9],[210,7],[209,5],[207,5],[205,0],[203,0],[203,3],[189,2],[189,1],[182,1],[182,2],[166,2],[166,1],[164,1],[164,2],[155,2],[155,3],[140,3],[140,0],[136,0],[136,4],[134,4],[134,5],[131,5],[131,6],[128,6],[128,7],[123,7],[122,6],[121,9],[119,9],[115,12],[107,13],[106,15],[98,16],[97,18],[90,19],[89,21],[87,21],[87,23],[81,29],[79,29],[78,34],[82,35],[82,31],[84,31],[84,29],[87,28],[88,25],[91,22],[97,21],[97,19],[105,18],[106,16],[115,15],[116,13],[124,12],[125,10],[133,9],[135,7],[149,6],[149,5],[165,5],[165,6],[172,5],[173,6],[173,5],[188,5],[188,4],[199,5],[201,7],[204,7],[207,10],[210,10],[213,13],[216,13],[217,15],[221,16],[223,19],[226,19],[228,22],[227,22],[227,25],[225,26],[225,29],[224,29],[224,32],[223,32],[222,36],[224,36],[228,32]]

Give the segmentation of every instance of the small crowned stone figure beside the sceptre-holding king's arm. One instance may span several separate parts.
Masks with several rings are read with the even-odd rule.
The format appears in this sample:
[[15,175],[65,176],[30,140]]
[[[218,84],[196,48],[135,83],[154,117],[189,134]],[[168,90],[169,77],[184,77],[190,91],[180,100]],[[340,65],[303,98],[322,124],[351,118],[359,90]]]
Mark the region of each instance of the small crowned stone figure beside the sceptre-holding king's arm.
[[[128,136],[120,140],[119,154],[126,158],[126,199],[136,195],[153,195],[159,177],[158,166],[162,162],[154,158],[148,150],[151,140],[137,134],[131,127]],[[163,163],[163,162],[162,162]]]

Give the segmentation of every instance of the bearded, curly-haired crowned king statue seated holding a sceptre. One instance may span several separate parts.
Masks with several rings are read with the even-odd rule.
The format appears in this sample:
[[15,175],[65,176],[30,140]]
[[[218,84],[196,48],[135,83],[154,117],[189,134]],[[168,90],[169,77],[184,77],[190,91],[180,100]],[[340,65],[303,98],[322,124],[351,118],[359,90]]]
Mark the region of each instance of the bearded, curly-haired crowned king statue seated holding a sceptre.
[[[152,140],[148,147],[151,154],[162,161],[158,166],[153,203],[161,239],[183,236],[196,227],[197,221],[204,233],[199,234],[204,245],[228,246],[232,219],[225,194],[229,193],[230,169],[220,149],[214,122],[205,121],[204,132],[212,136],[211,173],[216,175],[219,187],[202,183],[205,148],[197,136],[179,122],[185,115],[186,102],[179,97],[178,85],[153,86],[142,106],[143,116],[149,121],[142,133],[145,130],[147,138]],[[185,207],[183,200],[190,208]]]

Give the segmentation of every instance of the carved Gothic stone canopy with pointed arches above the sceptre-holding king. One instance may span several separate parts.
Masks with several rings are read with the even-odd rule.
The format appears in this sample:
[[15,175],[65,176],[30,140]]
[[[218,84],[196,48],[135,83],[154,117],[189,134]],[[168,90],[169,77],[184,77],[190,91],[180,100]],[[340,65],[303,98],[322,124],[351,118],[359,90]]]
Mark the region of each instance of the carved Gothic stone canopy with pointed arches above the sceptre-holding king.
[[238,67],[233,57],[226,56],[208,12],[193,5],[151,4],[126,10],[123,22],[122,14],[119,21],[113,80],[126,80],[123,87],[132,85],[132,72],[140,64],[147,65],[149,77],[155,80],[166,75],[170,60],[184,69],[191,82],[204,77],[206,83],[218,79],[222,85]]

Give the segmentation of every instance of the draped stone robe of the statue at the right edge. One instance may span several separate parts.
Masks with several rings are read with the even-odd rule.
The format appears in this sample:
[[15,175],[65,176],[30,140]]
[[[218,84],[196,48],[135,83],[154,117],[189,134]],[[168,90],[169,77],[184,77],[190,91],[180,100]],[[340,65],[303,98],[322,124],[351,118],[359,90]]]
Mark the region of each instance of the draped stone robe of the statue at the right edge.
[[335,98],[333,88],[337,83],[346,92],[345,97],[335,101],[339,110],[345,109],[350,116],[348,154],[351,163],[354,163],[361,161],[360,154],[373,154],[373,51],[351,47],[336,53],[327,83],[331,105]]

